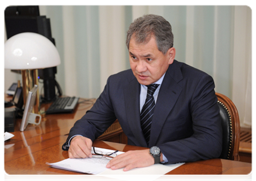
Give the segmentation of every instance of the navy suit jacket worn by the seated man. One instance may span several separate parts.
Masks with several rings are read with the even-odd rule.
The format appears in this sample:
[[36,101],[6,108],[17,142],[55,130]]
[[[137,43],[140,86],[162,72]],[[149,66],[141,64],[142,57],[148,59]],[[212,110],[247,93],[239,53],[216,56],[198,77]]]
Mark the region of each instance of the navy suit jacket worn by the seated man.
[[92,141],[118,119],[128,144],[160,148],[168,164],[219,157],[222,125],[214,81],[185,63],[169,65],[157,97],[149,145],[140,127],[140,84],[131,69],[111,75],[94,106],[70,130]]

